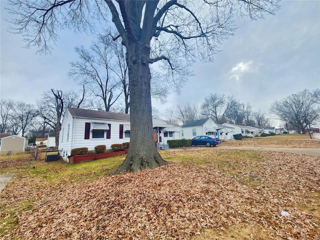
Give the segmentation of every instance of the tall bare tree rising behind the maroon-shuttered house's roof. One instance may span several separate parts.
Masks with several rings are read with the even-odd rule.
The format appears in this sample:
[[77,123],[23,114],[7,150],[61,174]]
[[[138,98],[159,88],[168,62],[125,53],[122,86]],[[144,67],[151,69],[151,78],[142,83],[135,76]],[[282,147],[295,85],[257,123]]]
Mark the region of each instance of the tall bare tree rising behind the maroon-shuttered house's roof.
[[[79,84],[89,89],[89,95],[101,101],[104,111],[109,111],[120,97],[124,90],[123,85],[127,90],[126,67],[121,59],[118,59],[120,65],[115,61],[117,55],[122,55],[121,52],[114,52],[112,44],[114,43],[110,37],[98,35],[89,49],[83,46],[75,47],[80,60],[70,62],[71,70],[68,73]],[[116,68],[123,72],[115,74]]]

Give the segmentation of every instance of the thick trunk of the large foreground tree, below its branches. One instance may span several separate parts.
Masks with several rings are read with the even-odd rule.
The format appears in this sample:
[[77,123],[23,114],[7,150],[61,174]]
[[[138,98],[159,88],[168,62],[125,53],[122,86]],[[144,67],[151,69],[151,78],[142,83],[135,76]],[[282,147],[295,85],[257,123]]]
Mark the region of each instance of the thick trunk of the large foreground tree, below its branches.
[[129,152],[116,173],[153,169],[167,164],[158,153],[153,139],[149,50],[148,44],[139,42],[127,46],[131,106],[130,145]]

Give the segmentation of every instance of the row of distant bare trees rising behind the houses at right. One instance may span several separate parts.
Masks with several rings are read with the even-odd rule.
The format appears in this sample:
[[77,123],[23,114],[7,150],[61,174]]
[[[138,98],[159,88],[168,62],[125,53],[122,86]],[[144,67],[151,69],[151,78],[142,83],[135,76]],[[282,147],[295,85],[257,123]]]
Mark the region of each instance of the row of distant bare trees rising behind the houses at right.
[[[304,132],[306,126],[316,125],[320,120],[320,89],[291,94],[275,100],[269,112],[283,125]],[[253,110],[250,103],[243,103],[234,96],[211,93],[200,105],[185,103],[166,108],[164,117],[172,122],[186,123],[200,118],[212,118],[216,123],[230,122],[255,127],[270,127],[271,120],[261,109]]]

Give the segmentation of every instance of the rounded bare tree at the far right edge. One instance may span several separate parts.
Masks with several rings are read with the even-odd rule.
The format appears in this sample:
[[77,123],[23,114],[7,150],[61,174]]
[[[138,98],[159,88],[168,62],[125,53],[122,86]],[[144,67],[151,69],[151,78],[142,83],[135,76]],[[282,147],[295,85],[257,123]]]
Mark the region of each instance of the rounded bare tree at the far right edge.
[[299,132],[304,133],[320,118],[320,103],[317,101],[319,89],[313,91],[304,89],[281,100],[275,100],[270,106],[270,112],[279,120],[294,125]]

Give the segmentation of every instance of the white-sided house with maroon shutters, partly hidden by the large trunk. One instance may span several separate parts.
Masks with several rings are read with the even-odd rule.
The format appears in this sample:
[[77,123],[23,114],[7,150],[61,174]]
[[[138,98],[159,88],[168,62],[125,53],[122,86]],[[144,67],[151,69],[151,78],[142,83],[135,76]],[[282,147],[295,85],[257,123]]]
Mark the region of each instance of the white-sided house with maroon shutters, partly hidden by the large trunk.
[[[180,126],[157,116],[152,117],[152,122],[154,141],[166,144],[168,139],[180,139]],[[66,157],[72,148],[93,150],[96,145],[105,145],[110,149],[112,144],[128,141],[129,114],[68,107],[62,119],[58,148]]]

